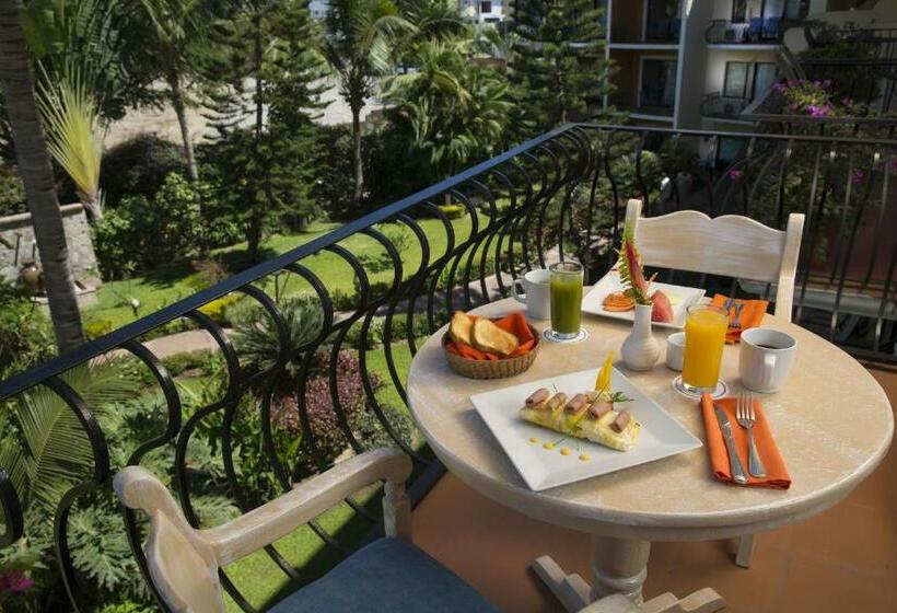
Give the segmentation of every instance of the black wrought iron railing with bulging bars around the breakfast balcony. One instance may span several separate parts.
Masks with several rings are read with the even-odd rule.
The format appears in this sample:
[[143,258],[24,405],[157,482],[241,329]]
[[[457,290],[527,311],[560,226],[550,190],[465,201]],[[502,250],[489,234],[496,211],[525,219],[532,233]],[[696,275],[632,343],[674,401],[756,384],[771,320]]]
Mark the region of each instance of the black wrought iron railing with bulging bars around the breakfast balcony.
[[[74,562],[79,545],[72,543],[80,541],[73,539],[78,527],[71,525],[72,509],[90,507],[108,491],[112,474],[120,467],[114,464],[137,464],[171,451],[173,487],[188,520],[199,524],[193,501],[201,488],[218,487],[245,511],[326,470],[338,456],[363,450],[370,441],[341,394],[347,374],[339,363],[347,350],[359,361],[354,377],[360,379],[361,410],[373,416],[378,436],[415,459],[412,489],[420,496],[440,469],[413,432],[396,427],[395,414],[385,406],[384,386],[404,403],[401,365],[422,338],[455,309],[508,296],[511,280],[523,270],[578,258],[586,266],[590,282],[599,278],[616,258],[614,246],[630,197],[643,198],[649,216],[690,208],[711,216],[748,215],[779,228],[789,212],[804,212],[795,320],[859,357],[894,361],[895,175],[897,142],[888,140],[568,125],[0,382],[0,401],[23,402],[35,388],[61,398],[92,454],[92,469],[83,478],[62,483],[53,517],[51,562],[58,565],[71,606],[83,611],[93,602],[90,582]],[[450,219],[457,210],[463,217]],[[361,242],[378,245],[380,264],[354,253]],[[315,273],[318,257],[351,270],[353,296],[337,292],[334,279]],[[768,284],[749,280],[675,271],[665,276],[711,291],[766,298],[776,293]],[[279,279],[273,287],[281,289],[283,277],[292,278],[299,293],[318,307],[313,334],[291,333],[289,299],[279,290],[269,294],[273,277]],[[251,368],[245,348],[201,310],[237,293],[264,314],[267,324],[260,320],[258,325],[272,331],[276,346],[268,348],[269,359],[260,367]],[[205,398],[189,410],[184,390],[141,343],[148,333],[175,320],[189,321],[214,338],[226,374],[219,397]],[[104,427],[95,407],[66,375],[115,351],[142,365],[150,374],[148,385],[162,397],[155,433],[124,459],[109,454],[109,440],[120,432]],[[385,365],[380,371],[373,367],[373,351]],[[275,389],[283,385],[284,373],[292,403],[283,410],[291,412],[298,428],[286,439],[271,416]],[[329,396],[327,418],[313,415],[308,406],[312,381]],[[221,475],[211,484],[202,482],[203,466],[190,461],[190,446],[200,431],[214,433],[214,451],[222,461]],[[338,453],[323,452],[325,439]],[[248,444],[256,446],[261,461],[247,467],[241,465],[241,450]],[[253,490],[263,475],[272,485]],[[0,473],[0,502],[5,528],[0,544],[8,547],[31,533],[34,527],[25,518],[34,517],[23,512],[26,497],[5,473]],[[350,498],[347,505],[360,521],[376,525],[376,513],[363,502]],[[145,570],[140,519],[130,512],[123,518],[121,530]],[[349,548],[322,523],[311,522],[308,529],[337,556]],[[301,583],[313,578],[294,568],[276,546],[265,555],[287,579]],[[226,571],[222,583],[241,608],[253,610],[241,592],[243,586],[234,585]]]

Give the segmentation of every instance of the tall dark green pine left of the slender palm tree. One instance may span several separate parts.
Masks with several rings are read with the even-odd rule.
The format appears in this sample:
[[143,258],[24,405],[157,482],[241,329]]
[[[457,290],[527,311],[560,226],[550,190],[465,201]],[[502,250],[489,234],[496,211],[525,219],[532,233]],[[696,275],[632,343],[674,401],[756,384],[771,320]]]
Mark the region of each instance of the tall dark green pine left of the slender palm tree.
[[266,230],[317,212],[311,190],[323,135],[314,118],[326,65],[307,0],[234,4],[215,28],[209,107],[225,178],[219,198],[244,228],[255,262]]

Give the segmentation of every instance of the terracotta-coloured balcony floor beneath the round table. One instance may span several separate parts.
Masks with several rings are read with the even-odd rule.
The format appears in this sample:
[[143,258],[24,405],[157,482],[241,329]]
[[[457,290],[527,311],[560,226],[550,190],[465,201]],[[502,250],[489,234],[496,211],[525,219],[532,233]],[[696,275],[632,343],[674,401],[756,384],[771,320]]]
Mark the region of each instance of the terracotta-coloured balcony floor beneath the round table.
[[[897,372],[871,370],[897,405]],[[849,407],[846,407],[849,410]],[[549,553],[590,577],[584,534],[541,523],[443,477],[415,511],[415,541],[489,600],[513,613],[560,613],[527,569]],[[731,543],[655,543],[645,595],[712,587],[733,613],[888,613],[897,611],[897,453],[843,502],[758,540],[749,569]]]

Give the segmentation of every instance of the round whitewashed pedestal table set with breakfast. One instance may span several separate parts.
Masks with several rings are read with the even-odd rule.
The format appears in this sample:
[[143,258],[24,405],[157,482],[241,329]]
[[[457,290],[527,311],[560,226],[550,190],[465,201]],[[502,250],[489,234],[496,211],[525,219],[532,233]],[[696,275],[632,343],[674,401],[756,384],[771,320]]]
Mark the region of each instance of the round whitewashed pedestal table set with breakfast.
[[[519,308],[513,299],[506,299],[473,313],[494,317]],[[538,329],[547,325],[533,323]],[[797,355],[785,385],[776,394],[757,394],[791,474],[792,486],[784,491],[714,481],[706,448],[543,491],[526,486],[474,410],[469,396],[597,369],[608,351],[619,356],[631,327],[627,322],[583,315],[586,340],[541,340],[539,356],[527,372],[499,380],[466,379],[450,370],[440,346],[443,328],[411,362],[409,406],[436,456],[467,485],[521,513],[593,535],[591,590],[579,576],[560,572],[547,556],[534,565],[568,609],[575,610],[608,593],[626,593],[641,601],[651,541],[732,537],[804,520],[848,496],[890,446],[890,404],[857,360],[819,336],[772,315],[766,315],[762,325],[797,339]],[[697,401],[673,390],[671,381],[676,373],[664,365],[669,332],[654,331],[662,350],[653,370],[633,372],[619,361],[616,367],[704,441]],[[726,346],[721,375],[731,393],[742,390],[737,372],[737,346]]]

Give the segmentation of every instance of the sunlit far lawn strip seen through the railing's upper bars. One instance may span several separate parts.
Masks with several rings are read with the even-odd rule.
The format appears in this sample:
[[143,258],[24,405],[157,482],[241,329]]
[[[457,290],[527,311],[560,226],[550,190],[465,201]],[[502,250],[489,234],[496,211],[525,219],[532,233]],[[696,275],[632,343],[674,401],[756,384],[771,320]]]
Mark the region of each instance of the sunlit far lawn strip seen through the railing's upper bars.
[[[480,217],[481,224],[487,222],[487,217]],[[273,235],[264,243],[264,248],[270,255],[281,254],[313,241],[337,227],[338,224],[335,223],[314,223],[307,232],[301,234]],[[442,222],[435,219],[420,220],[420,227],[430,243],[430,259],[432,262],[445,253],[446,233]],[[420,266],[421,261],[420,243],[412,232],[404,224],[386,224],[378,227],[378,229],[387,234],[400,233],[408,238],[406,246],[401,250],[403,277],[407,278],[412,275]],[[455,244],[466,240],[470,234],[469,217],[455,220],[454,229]],[[339,244],[358,257],[377,257],[385,254],[383,247],[369,236],[352,235]],[[245,243],[240,243],[221,248],[215,252],[215,256],[233,262],[238,259],[245,247]],[[340,256],[330,252],[322,252],[303,259],[302,264],[312,270],[329,291],[341,291],[348,294],[354,292],[354,275],[349,264]],[[136,276],[130,280],[106,282],[97,291],[97,303],[85,309],[84,320],[89,325],[96,322],[108,322],[112,324],[112,329],[121,327],[136,319],[130,307],[131,298],[137,298],[140,301],[138,316],[149,314],[194,293],[195,290],[189,282],[190,277],[194,275],[196,273],[191,269],[190,264],[182,262]],[[385,281],[392,279],[392,276],[393,271],[387,270],[372,276],[371,280]],[[280,281],[281,285],[286,281],[284,294],[313,291],[304,279],[295,275],[289,275],[289,280],[287,279],[288,276],[284,275]],[[266,279],[263,287],[273,293],[273,279]]]

